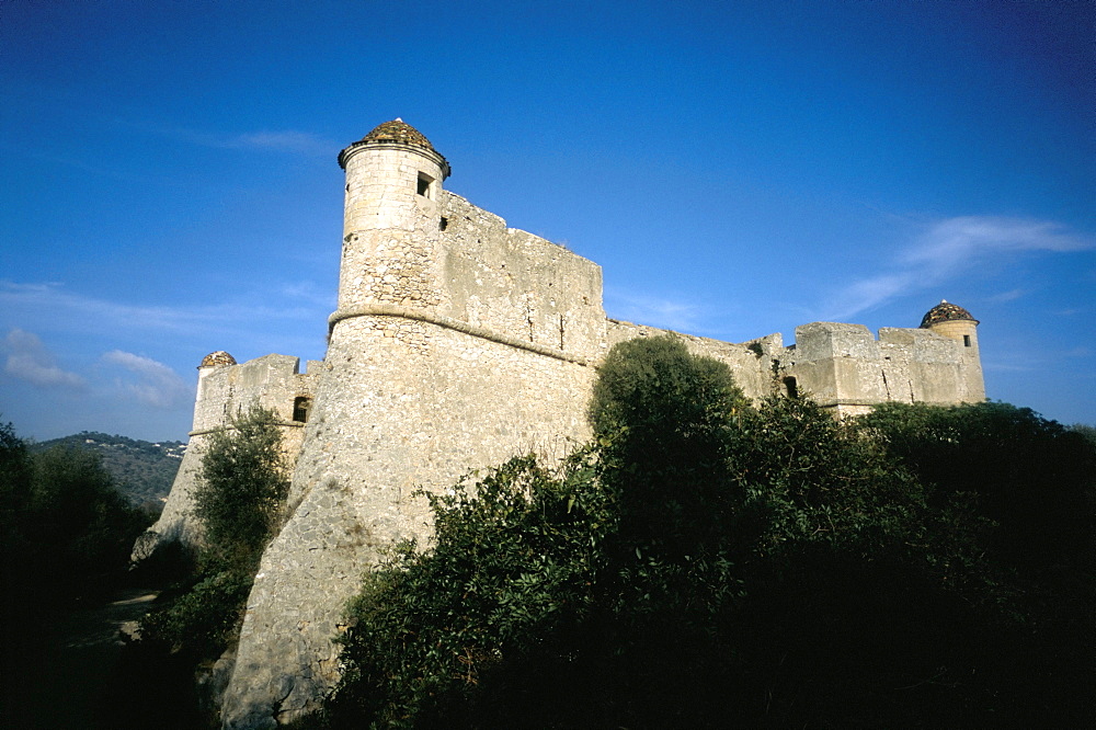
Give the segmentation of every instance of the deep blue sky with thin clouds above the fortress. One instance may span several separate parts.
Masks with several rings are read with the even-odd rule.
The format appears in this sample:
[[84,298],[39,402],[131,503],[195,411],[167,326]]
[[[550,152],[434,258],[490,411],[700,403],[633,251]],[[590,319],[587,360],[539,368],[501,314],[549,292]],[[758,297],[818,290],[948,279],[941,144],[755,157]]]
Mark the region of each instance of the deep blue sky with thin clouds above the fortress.
[[185,440],[195,367],[319,360],[339,150],[730,341],[981,320],[991,398],[1096,422],[1096,4],[0,2],[0,419]]

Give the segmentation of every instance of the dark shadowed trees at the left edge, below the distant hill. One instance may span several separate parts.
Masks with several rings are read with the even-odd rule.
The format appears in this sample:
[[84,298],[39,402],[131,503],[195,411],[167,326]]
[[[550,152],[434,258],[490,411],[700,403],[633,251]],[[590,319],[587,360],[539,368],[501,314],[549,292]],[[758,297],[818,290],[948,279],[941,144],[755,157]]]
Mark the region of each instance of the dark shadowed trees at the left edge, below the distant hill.
[[10,727],[43,688],[34,678],[57,641],[55,621],[107,595],[125,579],[134,539],[148,522],[114,487],[98,455],[32,453],[0,425],[0,707]]

